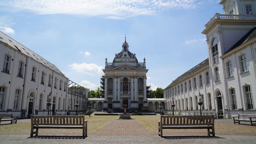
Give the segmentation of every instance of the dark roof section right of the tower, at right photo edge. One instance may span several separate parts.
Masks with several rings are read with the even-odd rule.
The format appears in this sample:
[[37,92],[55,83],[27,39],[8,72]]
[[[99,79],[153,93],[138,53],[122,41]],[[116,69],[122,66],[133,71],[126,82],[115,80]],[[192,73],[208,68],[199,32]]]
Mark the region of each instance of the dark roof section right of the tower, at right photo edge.
[[[230,52],[232,49],[235,49],[236,47],[239,47],[243,43],[245,43],[245,42],[247,42],[251,39],[254,39],[255,37],[256,37],[256,27],[249,30],[249,32],[247,32],[241,39],[239,39],[239,41],[237,41],[232,47],[230,47],[230,49],[228,49],[227,52]],[[227,52],[225,52],[225,54]]]

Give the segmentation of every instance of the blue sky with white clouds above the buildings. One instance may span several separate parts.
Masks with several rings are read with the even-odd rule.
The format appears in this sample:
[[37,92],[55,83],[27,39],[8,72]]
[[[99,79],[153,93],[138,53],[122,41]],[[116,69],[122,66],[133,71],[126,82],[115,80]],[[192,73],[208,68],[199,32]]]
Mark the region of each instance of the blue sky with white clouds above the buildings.
[[147,83],[165,88],[208,57],[201,34],[219,0],[2,0],[0,30],[55,64],[70,80],[100,86],[126,34],[146,59]]

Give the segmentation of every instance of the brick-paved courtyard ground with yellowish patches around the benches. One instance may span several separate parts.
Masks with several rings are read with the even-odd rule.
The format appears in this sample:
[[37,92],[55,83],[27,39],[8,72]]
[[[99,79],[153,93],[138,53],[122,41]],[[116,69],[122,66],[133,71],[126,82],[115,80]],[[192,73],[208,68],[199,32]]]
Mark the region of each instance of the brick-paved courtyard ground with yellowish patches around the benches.
[[217,137],[206,136],[204,129],[165,129],[166,137],[161,138],[157,134],[159,115],[132,116],[135,120],[116,120],[117,117],[86,116],[88,137],[84,139],[80,137],[80,129],[39,129],[39,137],[29,138],[30,119],[12,125],[2,122],[0,143],[253,143],[256,140],[256,127],[249,123],[234,125],[231,119],[215,120]]

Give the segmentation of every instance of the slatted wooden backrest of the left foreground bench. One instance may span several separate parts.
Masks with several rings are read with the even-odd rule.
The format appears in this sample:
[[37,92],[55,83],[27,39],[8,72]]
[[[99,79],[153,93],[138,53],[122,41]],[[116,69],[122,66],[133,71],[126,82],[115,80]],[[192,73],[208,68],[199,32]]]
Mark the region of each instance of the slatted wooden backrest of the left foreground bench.
[[31,115],[33,125],[83,125],[83,116],[44,116]]

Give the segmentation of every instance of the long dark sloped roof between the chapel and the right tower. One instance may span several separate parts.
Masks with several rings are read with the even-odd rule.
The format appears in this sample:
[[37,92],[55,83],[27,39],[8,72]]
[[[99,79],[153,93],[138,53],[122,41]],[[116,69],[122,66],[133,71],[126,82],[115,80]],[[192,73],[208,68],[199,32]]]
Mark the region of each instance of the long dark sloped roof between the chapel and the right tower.
[[[169,88],[177,83],[179,83],[180,81],[184,80],[185,78],[187,78],[189,75],[197,72],[199,69],[202,69],[203,67],[206,67],[209,65],[209,58],[206,58],[204,61],[200,62],[199,64],[197,64],[195,67],[193,67],[192,69],[190,69],[189,71],[183,73],[182,75],[180,75],[179,77],[177,77],[174,81],[171,82],[171,84],[169,84],[169,86],[167,86],[166,88]],[[165,89],[166,89],[165,88]]]

